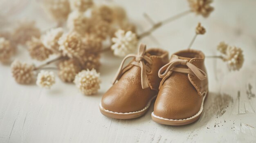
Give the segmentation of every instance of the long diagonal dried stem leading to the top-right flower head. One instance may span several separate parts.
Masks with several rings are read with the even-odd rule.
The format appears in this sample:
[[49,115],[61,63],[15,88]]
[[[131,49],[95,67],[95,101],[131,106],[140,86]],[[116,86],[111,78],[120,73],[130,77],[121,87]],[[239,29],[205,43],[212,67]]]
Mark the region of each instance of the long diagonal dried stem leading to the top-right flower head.
[[191,13],[191,10],[188,10],[188,11],[184,11],[182,13],[179,13],[177,15],[174,15],[170,18],[167,18],[166,20],[163,20],[163,21],[160,21],[160,22],[157,22],[156,24],[154,24],[148,31],[145,31],[143,33],[141,33],[140,35],[138,35],[138,39],[141,39],[147,35],[149,35],[150,33],[152,33],[153,31],[155,31],[156,29],[158,29],[160,26],[166,24],[166,23],[169,23],[169,22],[172,22],[173,20],[176,20],[178,18],[181,18],[182,16],[184,15],[187,15]]

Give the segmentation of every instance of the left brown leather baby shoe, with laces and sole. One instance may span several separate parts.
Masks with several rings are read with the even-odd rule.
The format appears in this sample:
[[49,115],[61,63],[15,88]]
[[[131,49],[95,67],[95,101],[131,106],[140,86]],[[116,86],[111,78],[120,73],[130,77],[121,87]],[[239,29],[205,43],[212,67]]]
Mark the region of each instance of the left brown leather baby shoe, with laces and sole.
[[[133,60],[123,68],[129,57]],[[146,45],[141,44],[138,54],[129,54],[122,61],[114,85],[101,99],[101,113],[116,119],[132,119],[143,115],[157,97],[161,82],[158,70],[167,63],[167,51],[159,48],[146,51]]]

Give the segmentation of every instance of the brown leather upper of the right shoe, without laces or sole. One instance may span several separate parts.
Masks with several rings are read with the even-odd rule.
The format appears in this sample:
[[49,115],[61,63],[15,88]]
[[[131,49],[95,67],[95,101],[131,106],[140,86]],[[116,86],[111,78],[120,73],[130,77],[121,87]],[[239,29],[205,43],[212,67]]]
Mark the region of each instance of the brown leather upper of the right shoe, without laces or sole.
[[[187,59],[206,73],[204,54],[196,50],[179,51],[171,60]],[[179,68],[187,68],[178,65]],[[154,114],[166,119],[181,120],[193,117],[202,104],[201,93],[208,91],[208,79],[200,80],[187,73],[173,72],[161,86],[154,106]]]

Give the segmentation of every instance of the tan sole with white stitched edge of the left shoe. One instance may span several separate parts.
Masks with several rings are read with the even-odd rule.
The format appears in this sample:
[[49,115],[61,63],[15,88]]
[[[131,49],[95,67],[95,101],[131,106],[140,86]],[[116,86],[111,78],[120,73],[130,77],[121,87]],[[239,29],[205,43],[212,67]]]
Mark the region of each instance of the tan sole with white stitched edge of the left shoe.
[[[137,118],[139,116],[141,116],[144,112],[146,112],[146,110],[149,108],[151,102],[153,101],[153,99],[155,99],[157,97],[157,95],[155,95],[153,98],[151,98],[147,105],[139,110],[139,111],[135,111],[135,112],[125,112],[125,113],[121,113],[121,112],[113,112],[110,110],[106,110],[105,108],[102,107],[101,103],[99,104],[99,108],[100,111],[103,115],[111,117],[111,118],[117,118],[117,119],[132,119],[132,118]],[[131,116],[129,116],[131,115]],[[135,116],[132,116],[135,115]]]

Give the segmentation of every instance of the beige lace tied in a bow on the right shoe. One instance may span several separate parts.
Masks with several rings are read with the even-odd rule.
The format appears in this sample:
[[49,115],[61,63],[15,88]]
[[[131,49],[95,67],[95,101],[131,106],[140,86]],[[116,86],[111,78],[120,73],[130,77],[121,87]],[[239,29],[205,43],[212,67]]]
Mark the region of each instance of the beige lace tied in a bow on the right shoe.
[[[183,65],[187,66],[188,68],[177,68],[175,66],[177,65]],[[172,71],[179,72],[179,73],[188,73],[191,75],[195,75],[200,80],[204,80],[207,78],[206,73],[193,65],[191,62],[189,62],[186,59],[175,59],[174,61],[164,65],[160,70],[158,71],[158,76],[160,78],[163,78],[161,81],[160,86],[164,83],[164,81],[171,75]]]

